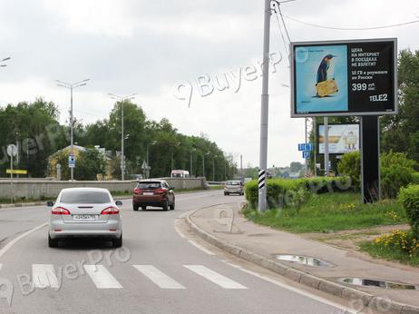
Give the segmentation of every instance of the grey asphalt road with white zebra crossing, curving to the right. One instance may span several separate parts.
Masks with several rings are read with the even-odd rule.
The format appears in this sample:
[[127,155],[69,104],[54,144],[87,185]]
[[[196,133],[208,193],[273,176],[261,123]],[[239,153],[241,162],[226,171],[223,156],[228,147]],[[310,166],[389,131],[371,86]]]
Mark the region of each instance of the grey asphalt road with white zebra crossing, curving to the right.
[[211,248],[179,218],[243,200],[222,191],[178,194],[175,211],[132,211],[131,200],[125,200],[119,250],[85,240],[50,249],[41,226],[48,208],[0,210],[0,312],[342,312],[336,299],[287,289],[292,284],[278,275]]

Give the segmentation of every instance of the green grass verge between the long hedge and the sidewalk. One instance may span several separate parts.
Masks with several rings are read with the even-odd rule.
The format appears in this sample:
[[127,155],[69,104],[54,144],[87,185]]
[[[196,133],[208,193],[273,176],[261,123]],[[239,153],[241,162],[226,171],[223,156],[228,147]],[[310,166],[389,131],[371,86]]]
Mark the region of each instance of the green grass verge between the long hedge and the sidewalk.
[[405,213],[397,201],[364,204],[354,192],[311,194],[300,208],[286,207],[259,213],[245,209],[250,221],[292,232],[334,232],[405,223]]

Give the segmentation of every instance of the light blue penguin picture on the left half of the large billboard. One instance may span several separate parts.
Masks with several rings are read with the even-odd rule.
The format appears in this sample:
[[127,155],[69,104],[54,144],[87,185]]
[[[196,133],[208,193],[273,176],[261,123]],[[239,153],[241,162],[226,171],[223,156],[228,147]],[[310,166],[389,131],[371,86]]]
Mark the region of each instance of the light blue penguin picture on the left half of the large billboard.
[[295,66],[297,113],[348,111],[346,45],[297,47]]

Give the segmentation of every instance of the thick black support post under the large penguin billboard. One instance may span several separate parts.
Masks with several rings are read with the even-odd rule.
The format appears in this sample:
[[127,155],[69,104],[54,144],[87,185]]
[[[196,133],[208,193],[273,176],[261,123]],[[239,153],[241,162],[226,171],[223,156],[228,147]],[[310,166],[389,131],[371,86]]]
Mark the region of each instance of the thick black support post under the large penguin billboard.
[[377,115],[361,117],[361,192],[364,203],[380,199],[380,125]]

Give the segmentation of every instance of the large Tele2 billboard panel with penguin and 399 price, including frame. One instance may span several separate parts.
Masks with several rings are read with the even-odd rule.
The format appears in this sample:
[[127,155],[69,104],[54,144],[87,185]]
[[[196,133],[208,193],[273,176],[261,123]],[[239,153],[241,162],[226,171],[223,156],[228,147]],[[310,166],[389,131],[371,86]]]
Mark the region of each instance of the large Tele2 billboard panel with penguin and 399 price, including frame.
[[291,117],[397,113],[397,40],[291,43]]

